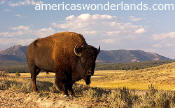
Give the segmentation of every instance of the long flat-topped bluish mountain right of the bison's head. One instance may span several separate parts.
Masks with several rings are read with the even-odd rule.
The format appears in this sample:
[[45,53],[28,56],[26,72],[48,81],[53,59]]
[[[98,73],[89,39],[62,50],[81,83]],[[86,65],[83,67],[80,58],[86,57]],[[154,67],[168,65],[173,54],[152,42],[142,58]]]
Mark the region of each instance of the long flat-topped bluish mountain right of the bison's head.
[[142,50],[102,50],[97,58],[98,62],[143,62],[143,61],[169,61],[171,59],[152,52]]

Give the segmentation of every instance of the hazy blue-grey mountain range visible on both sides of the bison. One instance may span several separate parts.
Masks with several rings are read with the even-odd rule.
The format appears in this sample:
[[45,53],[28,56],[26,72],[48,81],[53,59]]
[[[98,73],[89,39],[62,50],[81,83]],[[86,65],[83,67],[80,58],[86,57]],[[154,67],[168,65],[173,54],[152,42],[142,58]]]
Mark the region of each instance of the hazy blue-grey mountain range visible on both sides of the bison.
[[[0,51],[0,63],[26,62],[26,47],[16,45]],[[102,63],[125,63],[143,61],[169,61],[170,58],[156,53],[144,52],[142,50],[102,50],[97,62]]]

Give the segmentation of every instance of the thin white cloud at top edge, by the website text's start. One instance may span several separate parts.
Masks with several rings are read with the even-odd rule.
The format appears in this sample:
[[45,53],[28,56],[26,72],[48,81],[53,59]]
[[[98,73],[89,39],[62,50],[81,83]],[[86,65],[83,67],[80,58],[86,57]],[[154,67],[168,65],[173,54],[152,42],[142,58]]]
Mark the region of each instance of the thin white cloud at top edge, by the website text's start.
[[9,2],[8,5],[11,7],[17,7],[17,6],[25,6],[25,5],[35,5],[35,4],[41,4],[42,1],[35,1],[35,0],[21,0],[19,2]]

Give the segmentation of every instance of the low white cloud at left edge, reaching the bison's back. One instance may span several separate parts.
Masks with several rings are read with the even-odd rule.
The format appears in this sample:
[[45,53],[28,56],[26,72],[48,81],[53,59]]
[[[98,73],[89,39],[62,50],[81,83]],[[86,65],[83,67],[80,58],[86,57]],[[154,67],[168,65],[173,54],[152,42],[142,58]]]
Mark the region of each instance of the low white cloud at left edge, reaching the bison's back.
[[32,29],[30,26],[24,25],[11,27],[10,30],[8,32],[0,32],[1,46],[27,45],[36,38],[46,37],[55,33],[55,30],[51,27]]

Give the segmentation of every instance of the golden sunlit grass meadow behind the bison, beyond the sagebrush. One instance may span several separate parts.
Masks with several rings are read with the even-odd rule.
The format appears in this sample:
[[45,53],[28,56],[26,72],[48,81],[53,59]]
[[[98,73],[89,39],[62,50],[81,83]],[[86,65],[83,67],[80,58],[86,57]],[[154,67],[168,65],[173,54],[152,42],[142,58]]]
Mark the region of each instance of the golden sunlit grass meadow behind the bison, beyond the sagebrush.
[[[15,73],[9,74],[15,76]],[[38,81],[54,82],[54,73],[42,72],[38,75]],[[30,73],[21,73],[21,78],[30,79]],[[85,84],[83,80],[77,82]],[[99,70],[95,71],[90,87],[123,88],[147,90],[153,85],[158,90],[175,90],[175,63],[164,64],[158,67],[125,71],[125,70]]]

